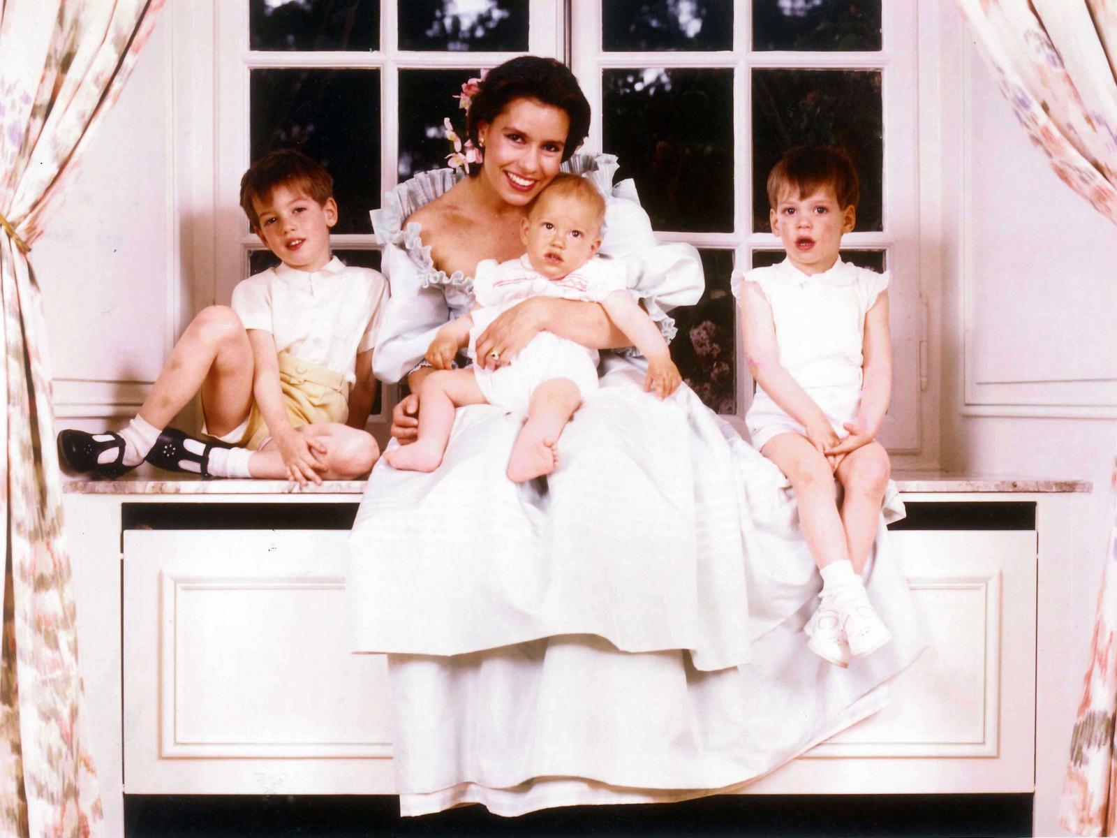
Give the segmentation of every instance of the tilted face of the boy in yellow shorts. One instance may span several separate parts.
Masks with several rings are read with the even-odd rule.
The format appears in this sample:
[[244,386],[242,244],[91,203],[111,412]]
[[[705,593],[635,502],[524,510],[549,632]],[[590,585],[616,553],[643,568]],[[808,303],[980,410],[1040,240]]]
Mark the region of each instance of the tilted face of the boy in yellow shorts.
[[266,199],[252,198],[259,223],[256,235],[284,265],[319,270],[330,261],[330,228],[337,223],[333,198],[318,203],[305,192],[280,184]]

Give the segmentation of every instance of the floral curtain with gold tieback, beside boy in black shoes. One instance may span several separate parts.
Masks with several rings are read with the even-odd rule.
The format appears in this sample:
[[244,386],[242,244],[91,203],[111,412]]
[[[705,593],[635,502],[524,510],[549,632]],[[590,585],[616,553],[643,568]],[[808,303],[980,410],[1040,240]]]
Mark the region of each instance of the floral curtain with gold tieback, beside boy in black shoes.
[[0,835],[101,835],[50,370],[28,253],[162,0],[0,0]]

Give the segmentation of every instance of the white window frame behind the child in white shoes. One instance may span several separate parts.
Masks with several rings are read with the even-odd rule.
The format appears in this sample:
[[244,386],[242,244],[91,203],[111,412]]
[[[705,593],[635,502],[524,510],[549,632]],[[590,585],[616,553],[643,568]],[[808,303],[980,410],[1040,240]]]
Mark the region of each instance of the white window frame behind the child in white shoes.
[[[608,1],[608,0],[605,0]],[[601,4],[574,2],[571,23],[574,74],[593,112],[585,150],[602,150],[602,70],[611,68],[718,68],[733,70],[734,107],[734,230],[732,232],[657,231],[667,241],[686,241],[695,247],[727,249],[736,266],[750,266],[754,249],[782,249],[771,232],[752,232],[752,178],[767,172],[751,171],[752,135],[751,70],[755,68],[794,69],[878,69],[881,73],[884,107],[884,223],[880,231],[851,232],[843,237],[843,249],[885,250],[886,266],[892,273],[889,291],[894,343],[892,401],[881,429],[881,440],[900,465],[922,465],[924,428],[933,421],[934,404],[924,399],[928,391],[927,307],[919,276],[919,190],[918,190],[918,84],[917,84],[917,0],[888,0],[882,3],[879,53],[753,53],[751,3],[734,3],[732,50],[609,51],[602,50]],[[621,161],[623,164],[623,161]],[[726,417],[743,428],[744,413],[752,400],[753,382],[743,363],[744,344],[739,321],[737,333],[737,413]],[[932,390],[933,392],[933,390]],[[894,460],[894,464],[896,461]]]

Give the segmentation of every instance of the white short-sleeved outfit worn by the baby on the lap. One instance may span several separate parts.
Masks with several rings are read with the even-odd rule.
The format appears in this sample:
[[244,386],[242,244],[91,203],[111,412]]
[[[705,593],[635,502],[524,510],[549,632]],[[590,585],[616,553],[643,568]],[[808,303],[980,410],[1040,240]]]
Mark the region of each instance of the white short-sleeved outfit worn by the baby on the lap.
[[[621,261],[594,256],[562,279],[548,279],[532,267],[527,256],[497,264],[485,259],[477,265],[474,296],[483,306],[472,312],[469,331],[469,356],[477,361],[477,337],[502,313],[531,297],[576,299],[600,303],[614,291],[627,287],[627,272]],[[584,399],[598,389],[598,351],[552,332],[540,332],[522,349],[512,363],[496,370],[474,365],[477,385],[489,404],[521,413],[527,412],[532,393],[551,379],[573,381]]]

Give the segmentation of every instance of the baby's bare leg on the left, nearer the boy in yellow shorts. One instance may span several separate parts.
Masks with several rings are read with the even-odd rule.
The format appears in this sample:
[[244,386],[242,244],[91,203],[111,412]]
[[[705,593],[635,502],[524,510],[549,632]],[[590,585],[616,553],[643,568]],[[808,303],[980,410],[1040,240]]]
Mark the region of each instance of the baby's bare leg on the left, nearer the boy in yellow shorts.
[[394,468],[433,472],[442,463],[454,427],[454,411],[486,403],[472,370],[438,370],[419,385],[419,438],[384,455]]

